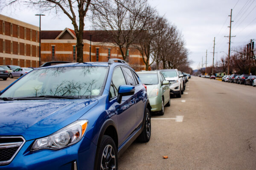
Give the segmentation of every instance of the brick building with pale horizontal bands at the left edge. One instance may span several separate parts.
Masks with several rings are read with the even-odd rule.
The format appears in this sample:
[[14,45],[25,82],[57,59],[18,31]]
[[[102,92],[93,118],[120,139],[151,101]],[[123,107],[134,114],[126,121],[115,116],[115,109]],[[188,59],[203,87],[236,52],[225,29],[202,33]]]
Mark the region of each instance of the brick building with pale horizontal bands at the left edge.
[[39,66],[39,27],[0,14],[0,65]]

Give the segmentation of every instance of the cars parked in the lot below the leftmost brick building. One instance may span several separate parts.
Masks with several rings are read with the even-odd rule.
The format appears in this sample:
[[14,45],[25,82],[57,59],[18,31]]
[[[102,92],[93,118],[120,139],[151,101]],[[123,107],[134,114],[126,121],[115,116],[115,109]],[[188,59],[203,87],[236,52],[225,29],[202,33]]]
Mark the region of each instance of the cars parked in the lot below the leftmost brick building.
[[8,77],[22,77],[32,70],[33,68],[21,68],[17,65],[0,65],[0,79],[7,80]]

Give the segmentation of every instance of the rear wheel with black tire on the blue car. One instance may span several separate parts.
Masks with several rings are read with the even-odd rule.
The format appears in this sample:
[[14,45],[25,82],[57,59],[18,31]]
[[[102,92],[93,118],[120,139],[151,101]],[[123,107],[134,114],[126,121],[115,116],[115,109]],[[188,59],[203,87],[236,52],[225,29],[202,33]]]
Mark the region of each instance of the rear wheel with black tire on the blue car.
[[138,136],[138,142],[148,142],[151,136],[151,117],[148,108],[145,110],[145,124],[142,133]]

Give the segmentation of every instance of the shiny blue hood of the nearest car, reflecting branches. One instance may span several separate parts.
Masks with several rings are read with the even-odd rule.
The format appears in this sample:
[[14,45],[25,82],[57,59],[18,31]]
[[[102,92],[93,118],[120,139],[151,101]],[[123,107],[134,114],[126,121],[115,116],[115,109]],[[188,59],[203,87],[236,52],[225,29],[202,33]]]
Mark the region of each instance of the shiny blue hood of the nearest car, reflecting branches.
[[97,103],[96,99],[0,102],[0,136],[23,136],[26,141],[48,136]]

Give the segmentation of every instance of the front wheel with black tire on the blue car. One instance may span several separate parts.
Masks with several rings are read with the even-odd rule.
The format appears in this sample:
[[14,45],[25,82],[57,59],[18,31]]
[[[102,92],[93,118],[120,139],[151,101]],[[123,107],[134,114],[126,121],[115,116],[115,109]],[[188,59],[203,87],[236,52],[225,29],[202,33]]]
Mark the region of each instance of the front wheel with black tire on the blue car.
[[109,170],[118,169],[116,144],[110,136],[102,136],[95,161],[95,170],[101,170],[101,166]]

